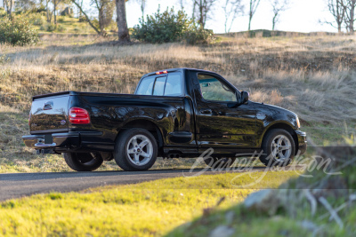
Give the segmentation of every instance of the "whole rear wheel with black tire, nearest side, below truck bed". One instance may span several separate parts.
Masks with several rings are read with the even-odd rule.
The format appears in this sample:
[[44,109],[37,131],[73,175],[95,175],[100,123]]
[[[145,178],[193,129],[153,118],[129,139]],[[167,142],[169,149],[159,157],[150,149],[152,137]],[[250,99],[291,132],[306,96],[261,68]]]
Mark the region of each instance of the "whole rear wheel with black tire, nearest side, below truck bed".
[[[136,139],[135,139],[136,138]],[[150,140],[150,143],[140,147],[144,140]],[[134,140],[136,145],[134,146]],[[129,153],[132,151],[134,153]],[[142,155],[146,155],[143,157]],[[158,146],[156,138],[148,130],[129,129],[123,131],[117,138],[115,144],[114,158],[117,165],[126,171],[149,170],[156,162],[158,155]],[[138,157],[136,159],[136,157]],[[145,160],[146,159],[146,160]],[[135,162],[138,161],[138,162]]]

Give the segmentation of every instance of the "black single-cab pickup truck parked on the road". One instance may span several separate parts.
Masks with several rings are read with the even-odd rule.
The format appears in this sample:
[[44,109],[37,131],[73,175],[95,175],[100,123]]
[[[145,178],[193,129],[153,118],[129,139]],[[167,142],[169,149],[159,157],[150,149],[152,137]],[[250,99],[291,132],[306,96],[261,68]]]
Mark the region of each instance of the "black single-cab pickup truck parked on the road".
[[[221,75],[175,68],[143,75],[134,95],[64,91],[33,97],[28,147],[63,154],[77,171],[115,159],[123,170],[148,170],[157,157],[198,157],[231,165],[262,152],[267,166],[306,151],[297,115],[248,99]],[[209,160],[210,159],[210,160]]]

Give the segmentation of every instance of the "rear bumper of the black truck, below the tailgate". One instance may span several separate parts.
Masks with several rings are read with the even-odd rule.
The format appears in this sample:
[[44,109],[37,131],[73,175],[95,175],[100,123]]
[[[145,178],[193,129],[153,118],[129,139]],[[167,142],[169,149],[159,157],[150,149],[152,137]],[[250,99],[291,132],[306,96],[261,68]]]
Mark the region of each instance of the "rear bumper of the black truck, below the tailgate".
[[54,151],[70,151],[82,148],[86,138],[100,137],[100,131],[69,131],[39,135],[27,135],[22,139],[26,146],[36,150],[51,149]]

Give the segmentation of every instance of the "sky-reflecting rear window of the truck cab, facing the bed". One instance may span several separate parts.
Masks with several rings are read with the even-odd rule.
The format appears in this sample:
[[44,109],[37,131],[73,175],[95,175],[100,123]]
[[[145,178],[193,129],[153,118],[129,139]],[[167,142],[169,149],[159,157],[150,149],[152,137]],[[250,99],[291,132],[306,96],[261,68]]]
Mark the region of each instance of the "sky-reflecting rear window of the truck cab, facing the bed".
[[166,75],[150,75],[143,78],[135,92],[137,95],[182,96],[182,73],[173,72]]

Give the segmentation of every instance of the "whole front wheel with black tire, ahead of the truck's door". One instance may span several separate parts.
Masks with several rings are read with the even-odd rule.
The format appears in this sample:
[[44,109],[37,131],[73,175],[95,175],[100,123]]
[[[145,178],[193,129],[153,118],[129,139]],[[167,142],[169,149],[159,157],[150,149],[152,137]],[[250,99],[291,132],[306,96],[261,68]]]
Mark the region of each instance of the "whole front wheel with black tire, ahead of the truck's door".
[[[273,145],[279,138],[283,138],[280,146]],[[286,138],[286,140],[284,140]],[[287,140],[290,144],[287,144]],[[275,147],[277,154],[272,154],[272,146]],[[283,147],[290,147],[288,150],[283,150]],[[260,161],[265,166],[287,166],[295,157],[295,140],[287,130],[274,129],[270,130],[263,138],[263,155],[260,156]]]

